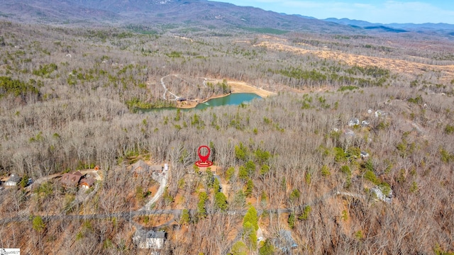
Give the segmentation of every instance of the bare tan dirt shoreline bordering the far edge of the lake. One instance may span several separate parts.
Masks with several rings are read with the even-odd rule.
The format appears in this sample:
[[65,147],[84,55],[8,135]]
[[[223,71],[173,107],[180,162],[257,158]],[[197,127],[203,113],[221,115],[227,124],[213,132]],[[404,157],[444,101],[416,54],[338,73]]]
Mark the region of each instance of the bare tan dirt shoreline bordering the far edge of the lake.
[[251,86],[249,84],[246,84],[243,81],[227,81],[227,84],[231,87],[231,93],[230,94],[223,94],[223,95],[218,95],[218,96],[210,96],[209,98],[206,98],[202,101],[182,101],[178,102],[176,108],[180,109],[191,109],[195,108],[199,103],[205,103],[206,101],[209,101],[214,98],[221,98],[224,96],[228,96],[231,94],[238,94],[238,93],[253,93],[256,94],[257,96],[260,96],[261,98],[266,98],[268,96],[275,95],[275,92],[271,91],[266,91],[264,89],[257,89],[254,86]]

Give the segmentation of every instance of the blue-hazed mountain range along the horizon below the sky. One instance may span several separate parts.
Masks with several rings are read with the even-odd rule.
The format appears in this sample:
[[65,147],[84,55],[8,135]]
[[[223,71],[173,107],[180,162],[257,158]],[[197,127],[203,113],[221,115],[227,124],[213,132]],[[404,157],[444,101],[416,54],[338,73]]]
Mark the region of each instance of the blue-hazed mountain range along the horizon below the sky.
[[[206,0],[1,0],[0,18],[26,23],[175,24],[213,29],[263,29],[323,33],[454,31],[448,24],[376,24],[347,18],[319,20]],[[271,29],[271,30],[269,30]]]

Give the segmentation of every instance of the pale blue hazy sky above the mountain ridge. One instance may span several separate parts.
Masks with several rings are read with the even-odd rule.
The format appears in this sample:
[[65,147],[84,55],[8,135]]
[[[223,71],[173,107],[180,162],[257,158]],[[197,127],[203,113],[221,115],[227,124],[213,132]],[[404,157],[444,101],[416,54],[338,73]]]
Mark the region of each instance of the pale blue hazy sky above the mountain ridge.
[[454,24],[453,0],[217,0],[266,11],[315,18],[350,18],[372,23]]

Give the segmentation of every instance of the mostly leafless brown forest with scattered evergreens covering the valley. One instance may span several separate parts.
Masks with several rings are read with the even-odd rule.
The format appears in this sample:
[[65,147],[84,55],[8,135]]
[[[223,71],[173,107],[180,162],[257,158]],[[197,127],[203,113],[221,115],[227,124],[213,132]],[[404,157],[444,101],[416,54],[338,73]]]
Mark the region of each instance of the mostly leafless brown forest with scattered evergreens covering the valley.
[[[136,229],[173,220],[160,254],[454,251],[452,37],[10,21],[0,31],[0,176],[23,180],[0,191],[1,247],[150,254]],[[275,96],[143,111],[222,96],[233,81]],[[194,166],[200,145],[219,179]],[[131,174],[138,159],[170,164],[148,210],[172,211],[115,215],[159,186]],[[94,166],[103,178],[83,201],[54,177]]]

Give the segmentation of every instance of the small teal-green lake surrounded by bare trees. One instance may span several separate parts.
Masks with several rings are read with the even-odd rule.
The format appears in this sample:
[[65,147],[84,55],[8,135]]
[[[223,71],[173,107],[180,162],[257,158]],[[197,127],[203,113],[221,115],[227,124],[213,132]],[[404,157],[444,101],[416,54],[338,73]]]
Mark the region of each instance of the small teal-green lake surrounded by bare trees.
[[[238,106],[241,103],[248,103],[253,101],[255,98],[261,98],[253,93],[234,93],[228,96],[223,96],[220,98],[213,98],[205,103],[199,103],[195,108],[183,109],[183,111],[191,111],[193,109],[203,110],[206,108],[214,106]],[[150,108],[150,109],[140,109],[140,112],[150,112],[150,111],[164,111],[164,110],[175,110],[177,108],[165,107],[165,108]]]

